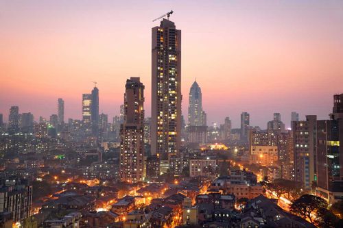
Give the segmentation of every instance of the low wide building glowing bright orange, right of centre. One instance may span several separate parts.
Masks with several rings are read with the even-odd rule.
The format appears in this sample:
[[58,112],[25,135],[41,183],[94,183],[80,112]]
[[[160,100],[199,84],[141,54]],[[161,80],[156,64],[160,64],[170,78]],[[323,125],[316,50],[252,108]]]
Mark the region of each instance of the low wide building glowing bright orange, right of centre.
[[250,164],[262,166],[275,166],[278,162],[278,149],[276,146],[252,146],[250,147]]

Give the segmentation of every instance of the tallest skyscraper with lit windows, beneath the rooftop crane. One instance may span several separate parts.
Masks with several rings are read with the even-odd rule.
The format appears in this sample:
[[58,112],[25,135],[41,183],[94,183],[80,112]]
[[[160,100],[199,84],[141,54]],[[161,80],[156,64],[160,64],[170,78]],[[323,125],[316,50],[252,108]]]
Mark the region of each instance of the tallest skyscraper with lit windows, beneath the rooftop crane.
[[[181,144],[181,31],[163,18],[152,28],[152,155],[165,173]],[[162,165],[163,164],[163,165]]]

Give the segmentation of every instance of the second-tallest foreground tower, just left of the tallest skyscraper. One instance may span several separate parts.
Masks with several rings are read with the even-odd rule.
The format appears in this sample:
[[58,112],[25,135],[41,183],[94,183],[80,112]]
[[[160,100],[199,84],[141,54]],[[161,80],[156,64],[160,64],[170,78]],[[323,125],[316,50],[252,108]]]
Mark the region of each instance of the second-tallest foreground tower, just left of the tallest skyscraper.
[[131,77],[125,87],[119,172],[121,181],[132,183],[143,181],[144,86],[139,77]]

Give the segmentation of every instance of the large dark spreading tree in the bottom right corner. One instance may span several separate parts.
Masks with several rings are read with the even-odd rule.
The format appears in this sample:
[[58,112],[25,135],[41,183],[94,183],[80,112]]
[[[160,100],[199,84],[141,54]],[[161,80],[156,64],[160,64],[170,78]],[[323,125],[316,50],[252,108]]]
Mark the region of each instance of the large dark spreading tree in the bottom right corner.
[[311,194],[304,194],[292,203],[290,211],[293,214],[305,219],[307,218],[311,223],[314,223],[315,221],[313,215],[318,210],[322,210],[323,208],[327,208],[327,202],[324,199]]

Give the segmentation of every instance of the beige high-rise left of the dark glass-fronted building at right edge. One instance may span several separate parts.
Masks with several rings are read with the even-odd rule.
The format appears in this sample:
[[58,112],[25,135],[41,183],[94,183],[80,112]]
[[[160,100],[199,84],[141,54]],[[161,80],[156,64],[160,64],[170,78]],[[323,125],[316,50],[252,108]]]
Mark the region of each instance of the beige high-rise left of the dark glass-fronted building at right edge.
[[310,189],[316,180],[317,116],[306,116],[306,121],[293,122],[294,180]]

